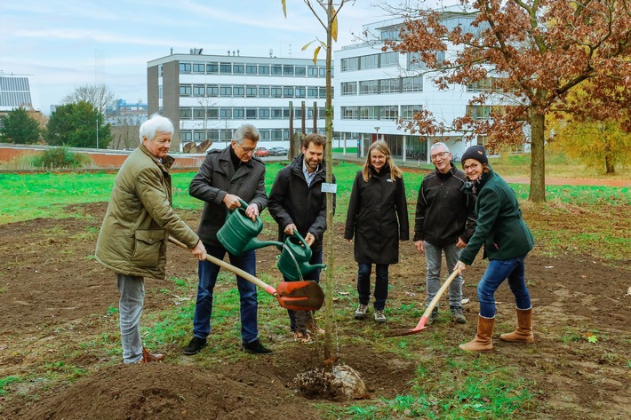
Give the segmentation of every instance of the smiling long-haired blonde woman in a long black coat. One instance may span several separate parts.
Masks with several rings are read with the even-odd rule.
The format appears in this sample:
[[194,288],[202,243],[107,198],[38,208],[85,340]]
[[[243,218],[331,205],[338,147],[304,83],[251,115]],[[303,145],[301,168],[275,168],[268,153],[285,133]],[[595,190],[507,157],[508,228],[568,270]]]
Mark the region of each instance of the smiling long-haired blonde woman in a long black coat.
[[344,238],[352,241],[354,236],[359,294],[355,320],[363,320],[368,313],[374,264],[375,321],[385,322],[387,268],[399,262],[398,242],[410,239],[403,175],[392,161],[385,141],[372,143],[353,183]]

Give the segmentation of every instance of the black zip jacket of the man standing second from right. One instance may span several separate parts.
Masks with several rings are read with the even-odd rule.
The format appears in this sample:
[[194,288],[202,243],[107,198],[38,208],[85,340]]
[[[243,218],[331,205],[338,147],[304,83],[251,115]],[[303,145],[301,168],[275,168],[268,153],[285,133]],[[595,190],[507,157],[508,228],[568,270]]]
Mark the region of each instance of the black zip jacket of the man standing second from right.
[[469,242],[475,230],[475,195],[460,189],[465,173],[451,165],[451,170],[429,172],[420,184],[416,202],[414,241],[436,246]]

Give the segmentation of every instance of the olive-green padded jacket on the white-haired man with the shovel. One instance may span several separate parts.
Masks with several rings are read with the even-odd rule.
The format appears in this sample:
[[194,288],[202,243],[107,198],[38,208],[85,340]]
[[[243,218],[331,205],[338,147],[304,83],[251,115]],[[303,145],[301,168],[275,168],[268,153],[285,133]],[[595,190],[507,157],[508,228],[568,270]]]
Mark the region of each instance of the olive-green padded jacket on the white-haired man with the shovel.
[[146,147],[132,152],[116,175],[96,243],[96,260],[116,273],[164,279],[166,242],[194,248],[199,238],[172,208],[174,159],[160,162]]

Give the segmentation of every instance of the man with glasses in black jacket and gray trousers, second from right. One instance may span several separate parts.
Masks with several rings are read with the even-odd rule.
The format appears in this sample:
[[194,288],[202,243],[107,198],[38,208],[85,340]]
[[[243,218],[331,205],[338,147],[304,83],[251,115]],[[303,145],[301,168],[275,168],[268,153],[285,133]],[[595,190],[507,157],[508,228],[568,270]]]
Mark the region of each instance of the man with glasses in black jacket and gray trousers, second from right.
[[[416,204],[414,246],[427,258],[427,304],[441,287],[441,261],[443,252],[447,271],[451,273],[458,263],[460,251],[467,246],[475,230],[475,196],[460,189],[465,174],[451,163],[447,145],[438,142],[430,148],[435,170],[427,174],[420,184]],[[456,277],[449,288],[449,304],[453,321],[465,323],[462,313],[462,276]],[[438,318],[438,305],[427,323]]]

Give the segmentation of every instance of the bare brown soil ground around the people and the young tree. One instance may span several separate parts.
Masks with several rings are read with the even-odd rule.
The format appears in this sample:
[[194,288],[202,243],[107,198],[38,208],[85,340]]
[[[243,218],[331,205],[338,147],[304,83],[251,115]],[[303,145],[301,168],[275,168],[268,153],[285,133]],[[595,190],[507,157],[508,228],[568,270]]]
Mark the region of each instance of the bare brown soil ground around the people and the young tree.
[[[26,376],[43,366],[59,372],[62,378],[63,367],[56,364],[61,355],[88,372],[74,382],[6,385],[4,389],[11,392],[5,396],[0,393],[2,418],[321,417],[314,401],[292,388],[297,374],[321,364],[317,345],[278,345],[278,337],[264,337],[275,348],[273,355],[242,357],[209,368],[196,366],[194,359],[181,356],[175,347],[160,349],[169,353],[164,363],[123,366],[119,354],[109,354],[93,345],[99,337],[109,337],[113,342],[118,339],[116,318],[104,315],[109,307],[117,307],[114,276],[88,258],[93,252],[94,235],[86,233],[98,230],[105,208],[106,203],[76,206],[76,212],[89,218],[36,219],[0,226],[0,379]],[[197,214],[184,216],[196,226]],[[543,218],[537,214],[525,216],[528,220]],[[339,238],[336,264],[356,266],[352,248],[340,234]],[[401,249],[401,262],[390,272],[391,308],[418,303],[424,297],[424,258],[419,258],[411,243]],[[274,270],[273,253],[260,250],[259,272]],[[167,271],[179,277],[195,275],[196,265],[188,253],[171,247]],[[473,279],[482,273],[481,262],[467,271],[471,279],[466,283],[467,297],[471,298],[465,306],[467,324],[444,321],[431,326],[448,329],[445,345],[456,346],[473,337],[477,313]],[[630,273],[627,268],[591,258],[547,258],[533,252],[527,260],[527,277],[536,343],[507,345],[497,339],[500,332],[508,331],[515,323],[514,301],[503,285],[497,295],[495,353],[471,357],[507,357],[520,376],[535,384],[539,390],[533,395],[537,411],[528,418],[631,418]],[[352,282],[354,278],[354,270],[349,269],[339,281]],[[143,320],[149,313],[173,305],[172,294],[159,291],[172,288],[172,281],[152,284],[156,287],[148,287]],[[348,307],[347,312],[353,309]],[[265,308],[260,307],[260,311]],[[411,328],[417,321],[389,321],[386,328]],[[340,336],[365,332],[350,316],[337,321],[337,327]],[[418,338],[418,351],[427,358],[441,357],[440,352],[423,345],[422,334],[426,332],[414,336]],[[590,343],[586,334],[593,334],[597,342]],[[392,353],[379,353],[374,343],[341,342],[342,361],[360,372],[375,403],[380,397],[394,398],[410,390],[414,363]]]

